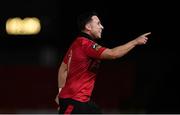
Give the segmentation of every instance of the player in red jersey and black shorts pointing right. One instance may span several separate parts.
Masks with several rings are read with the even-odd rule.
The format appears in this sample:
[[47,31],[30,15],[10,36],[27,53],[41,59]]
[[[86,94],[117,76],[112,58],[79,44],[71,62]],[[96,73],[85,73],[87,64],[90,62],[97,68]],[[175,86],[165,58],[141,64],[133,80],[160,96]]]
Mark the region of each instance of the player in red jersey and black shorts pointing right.
[[146,36],[150,33],[109,49],[96,43],[96,40],[101,38],[103,30],[96,13],[80,15],[78,26],[80,34],[71,44],[59,68],[59,93],[55,100],[59,104],[59,113],[101,113],[90,101],[100,60],[124,56],[135,46],[146,44]]

